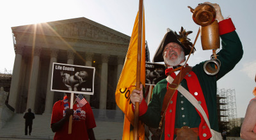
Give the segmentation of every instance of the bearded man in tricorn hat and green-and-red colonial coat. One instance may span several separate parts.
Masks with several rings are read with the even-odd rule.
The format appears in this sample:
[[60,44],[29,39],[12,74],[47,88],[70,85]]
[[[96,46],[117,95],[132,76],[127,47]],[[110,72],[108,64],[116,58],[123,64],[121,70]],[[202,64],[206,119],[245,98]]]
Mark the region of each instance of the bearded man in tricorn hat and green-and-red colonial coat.
[[[154,87],[152,100],[148,106],[143,99],[142,85],[141,90],[135,89],[131,93],[132,104],[140,103],[140,120],[148,127],[163,128],[160,134],[161,139],[187,139],[188,137],[191,139],[193,136],[192,139],[206,140],[212,137],[212,130],[219,130],[216,105],[217,80],[231,71],[241,60],[243,46],[232,20],[223,18],[218,4],[208,4],[216,10],[216,19],[220,26],[222,49],[217,53],[217,58],[221,62],[218,74],[212,76],[205,73],[205,61],[194,67],[185,65],[185,56],[193,52],[193,43],[190,43],[190,39],[187,38],[191,31],[186,32],[183,28],[179,34],[168,31],[154,56],[154,62],[164,62],[168,67],[166,69],[168,78],[159,81]],[[178,67],[175,68],[175,66]],[[181,69],[181,72],[176,71],[177,69]],[[188,72],[186,72],[187,69]],[[176,73],[179,74],[176,76]],[[169,95],[167,91],[170,90],[173,94],[166,97]],[[202,113],[184,95],[194,97],[196,103],[202,106],[206,117],[204,117],[205,114],[202,116]],[[134,107],[131,106],[131,108]],[[205,118],[209,119],[212,130],[209,129]],[[220,133],[218,134],[220,136]]]

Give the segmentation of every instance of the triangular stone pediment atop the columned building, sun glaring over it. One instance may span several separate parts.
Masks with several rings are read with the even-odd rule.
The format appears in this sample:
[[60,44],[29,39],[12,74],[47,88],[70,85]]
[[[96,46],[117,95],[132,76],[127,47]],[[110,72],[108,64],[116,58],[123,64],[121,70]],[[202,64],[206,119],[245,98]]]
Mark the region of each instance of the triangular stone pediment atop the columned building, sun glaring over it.
[[[12,27],[15,38],[28,38],[29,34],[63,38],[67,41],[98,41],[102,43],[129,44],[130,37],[88,18],[72,18],[41,24]],[[26,36],[24,36],[26,34]]]

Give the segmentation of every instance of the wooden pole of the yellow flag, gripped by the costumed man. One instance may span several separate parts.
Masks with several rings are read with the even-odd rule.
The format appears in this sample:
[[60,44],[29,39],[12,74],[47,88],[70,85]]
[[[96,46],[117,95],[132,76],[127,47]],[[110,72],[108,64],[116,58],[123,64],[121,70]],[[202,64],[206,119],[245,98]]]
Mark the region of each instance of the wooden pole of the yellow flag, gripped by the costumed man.
[[[141,68],[141,32],[143,21],[143,0],[139,4],[139,25],[138,25],[138,55],[137,55],[137,74],[136,74],[136,89],[140,90],[140,68]],[[134,112],[134,140],[138,139],[138,120],[139,120],[139,102],[135,102]]]

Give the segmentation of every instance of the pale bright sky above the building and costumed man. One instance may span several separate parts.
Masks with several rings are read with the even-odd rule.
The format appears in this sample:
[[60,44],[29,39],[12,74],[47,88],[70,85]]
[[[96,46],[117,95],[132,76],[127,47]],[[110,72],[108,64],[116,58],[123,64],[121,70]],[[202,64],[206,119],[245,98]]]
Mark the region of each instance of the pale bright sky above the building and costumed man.
[[[188,37],[195,41],[199,25],[192,20],[188,6],[196,8],[201,0],[146,0],[145,36],[150,51],[150,59],[154,56],[166,29],[193,31]],[[225,88],[236,91],[237,117],[244,117],[248,102],[253,98],[252,90],[256,86],[256,47],[253,43],[256,32],[256,14],[253,9],[255,0],[211,1],[221,7],[223,17],[232,18],[237,34],[244,49],[243,59],[237,66],[218,81],[218,89]],[[11,27],[85,17],[105,25],[127,36],[131,36],[139,0],[9,0],[1,1],[0,8],[0,73],[8,73],[13,69],[15,52]],[[196,52],[188,60],[195,66],[203,60],[209,60],[211,50],[202,50],[200,38],[195,44]]]

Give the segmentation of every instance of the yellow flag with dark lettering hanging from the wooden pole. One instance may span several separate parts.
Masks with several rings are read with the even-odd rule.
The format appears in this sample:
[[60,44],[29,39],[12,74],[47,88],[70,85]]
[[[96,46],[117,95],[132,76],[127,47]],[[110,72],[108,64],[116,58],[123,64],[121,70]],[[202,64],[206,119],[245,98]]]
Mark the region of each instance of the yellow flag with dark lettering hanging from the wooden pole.
[[[144,10],[143,10],[144,11]],[[120,78],[118,80],[118,85],[116,87],[116,104],[124,112],[124,132],[123,139],[133,139],[133,131],[131,124],[134,123],[134,113],[131,108],[130,94],[132,90],[136,88],[136,69],[137,69],[137,53],[138,53],[138,17],[139,12],[136,16],[134,22],[134,27],[132,30],[132,36],[129,44],[129,48],[126,54],[124,67]],[[142,22],[142,36],[141,36],[141,72],[140,81],[145,87],[145,18],[143,12],[143,22]],[[138,83],[140,84],[140,83]],[[144,139],[145,130],[144,125],[139,121],[138,124],[138,136],[139,139]]]

